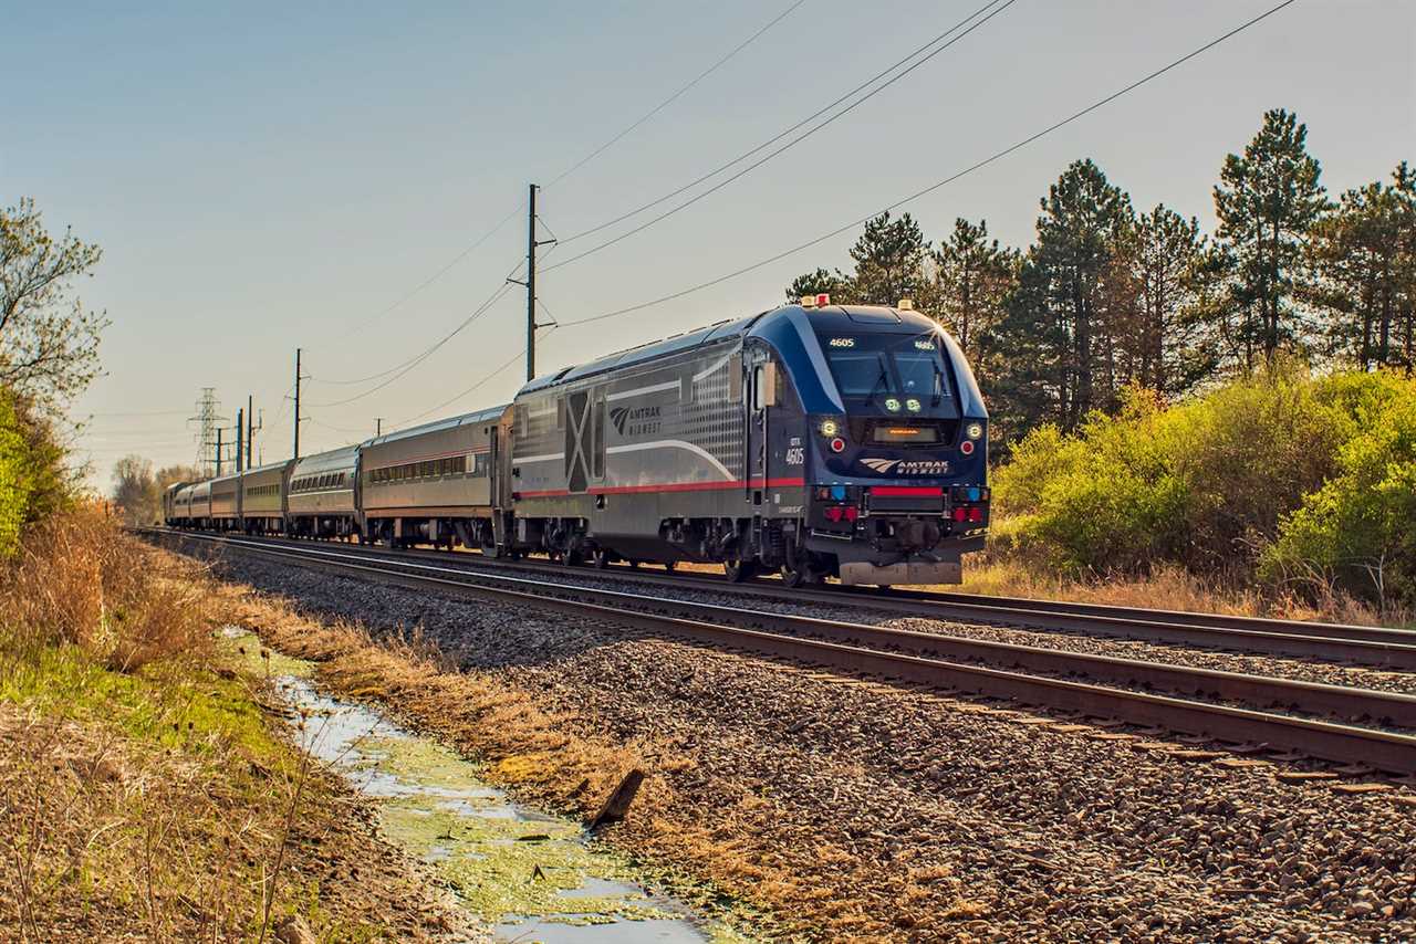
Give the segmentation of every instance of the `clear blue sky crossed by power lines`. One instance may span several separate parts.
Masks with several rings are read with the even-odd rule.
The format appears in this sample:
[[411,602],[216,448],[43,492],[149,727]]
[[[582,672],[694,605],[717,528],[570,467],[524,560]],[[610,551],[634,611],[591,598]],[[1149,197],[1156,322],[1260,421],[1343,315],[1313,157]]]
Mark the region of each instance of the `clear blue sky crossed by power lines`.
[[[1018,0],[898,85],[671,219],[542,279],[568,321],[773,255],[943,178],[1140,78],[1274,0]],[[634,133],[542,194],[566,235],[772,137],[983,0],[806,0]],[[62,4],[0,0],[0,202],[105,249],[85,300],[106,309],[108,375],[79,402],[108,484],[119,456],[194,459],[201,386],[265,412],[266,461],[290,450],[296,345],[302,451],[398,426],[521,350],[508,294],[408,376],[341,406],[360,378],[447,333],[524,253],[514,219],[375,316],[547,183],[760,28],[749,3]],[[910,205],[939,239],[986,218],[1027,245],[1037,202],[1078,157],[1138,208],[1212,226],[1223,154],[1264,109],[1308,123],[1332,191],[1416,160],[1416,3],[1298,0],[1076,125]],[[617,232],[609,231],[606,235]],[[586,239],[583,245],[590,245]],[[552,331],[541,372],[777,303],[852,235],[681,300]],[[569,248],[552,253],[569,256]],[[361,327],[362,326],[362,327]],[[520,365],[436,415],[508,399]],[[119,415],[143,413],[143,415]],[[348,430],[348,432],[346,432]]]

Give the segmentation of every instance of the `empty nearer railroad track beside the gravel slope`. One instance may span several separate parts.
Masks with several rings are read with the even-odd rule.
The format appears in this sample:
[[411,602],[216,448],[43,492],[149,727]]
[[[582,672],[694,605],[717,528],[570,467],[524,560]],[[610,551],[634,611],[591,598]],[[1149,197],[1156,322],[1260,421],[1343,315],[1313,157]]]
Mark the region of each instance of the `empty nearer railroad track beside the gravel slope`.
[[180,538],[416,589],[605,618],[658,635],[691,637],[852,674],[1416,774],[1416,735],[1409,733],[1416,732],[1412,695],[558,585],[350,546],[195,534]]

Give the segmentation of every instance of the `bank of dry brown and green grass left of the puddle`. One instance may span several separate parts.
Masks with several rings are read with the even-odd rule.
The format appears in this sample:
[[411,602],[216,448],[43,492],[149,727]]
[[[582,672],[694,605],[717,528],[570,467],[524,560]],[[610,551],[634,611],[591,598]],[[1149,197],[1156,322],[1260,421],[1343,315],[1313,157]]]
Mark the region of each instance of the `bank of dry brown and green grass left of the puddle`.
[[204,570],[91,512],[0,579],[0,940],[429,940],[447,911],[212,641]]

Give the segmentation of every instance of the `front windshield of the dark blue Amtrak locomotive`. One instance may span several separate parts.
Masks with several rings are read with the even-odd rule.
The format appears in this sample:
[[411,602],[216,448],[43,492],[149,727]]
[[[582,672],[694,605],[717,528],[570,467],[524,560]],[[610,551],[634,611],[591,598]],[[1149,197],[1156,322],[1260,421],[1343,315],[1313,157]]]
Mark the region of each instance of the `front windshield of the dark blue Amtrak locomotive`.
[[953,382],[932,334],[823,334],[841,396],[886,415],[959,416]]

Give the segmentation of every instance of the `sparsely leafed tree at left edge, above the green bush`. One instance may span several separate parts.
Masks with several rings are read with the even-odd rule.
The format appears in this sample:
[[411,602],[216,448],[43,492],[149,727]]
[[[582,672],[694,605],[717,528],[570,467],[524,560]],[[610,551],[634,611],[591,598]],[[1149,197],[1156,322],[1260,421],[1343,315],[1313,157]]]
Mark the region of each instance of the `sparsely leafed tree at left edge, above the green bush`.
[[108,326],[74,294],[102,251],[68,229],[55,239],[34,201],[0,209],[0,384],[44,409],[62,408],[98,376]]

